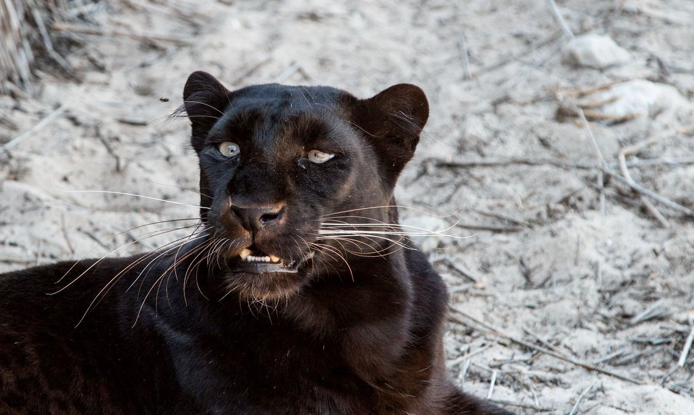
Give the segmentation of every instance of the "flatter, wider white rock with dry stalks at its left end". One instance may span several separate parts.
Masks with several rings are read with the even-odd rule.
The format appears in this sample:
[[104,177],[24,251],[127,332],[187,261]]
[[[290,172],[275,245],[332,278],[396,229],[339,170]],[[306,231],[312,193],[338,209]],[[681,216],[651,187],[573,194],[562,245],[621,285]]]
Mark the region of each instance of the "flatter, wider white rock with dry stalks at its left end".
[[600,107],[600,112],[613,116],[649,115],[689,105],[675,87],[643,79],[613,85],[589,99],[593,102],[604,101],[606,104]]

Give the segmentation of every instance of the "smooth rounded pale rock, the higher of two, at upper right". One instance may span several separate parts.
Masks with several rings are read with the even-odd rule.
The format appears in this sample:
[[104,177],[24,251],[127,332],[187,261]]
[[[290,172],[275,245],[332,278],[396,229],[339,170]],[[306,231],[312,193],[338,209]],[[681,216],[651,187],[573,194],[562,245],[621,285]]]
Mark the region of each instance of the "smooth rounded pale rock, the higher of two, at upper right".
[[620,48],[611,37],[582,35],[568,42],[562,49],[564,62],[579,67],[602,69],[631,60],[629,52]]

